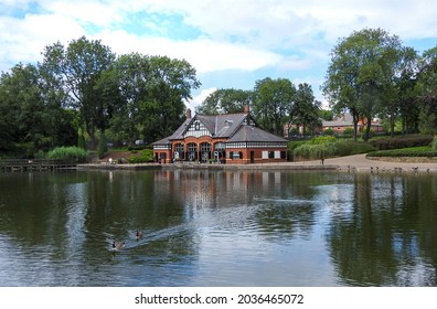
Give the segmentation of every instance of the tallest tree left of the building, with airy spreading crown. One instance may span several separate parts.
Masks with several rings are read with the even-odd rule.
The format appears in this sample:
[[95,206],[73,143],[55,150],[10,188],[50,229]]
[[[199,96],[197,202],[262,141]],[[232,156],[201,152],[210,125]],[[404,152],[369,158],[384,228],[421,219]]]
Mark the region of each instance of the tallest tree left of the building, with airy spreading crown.
[[65,107],[79,110],[92,147],[96,146],[96,130],[106,129],[108,106],[102,99],[96,85],[106,70],[114,64],[115,54],[100,41],[85,36],[73,40],[67,47],[60,42],[49,45],[43,52],[41,67],[56,81],[60,92],[68,95]]

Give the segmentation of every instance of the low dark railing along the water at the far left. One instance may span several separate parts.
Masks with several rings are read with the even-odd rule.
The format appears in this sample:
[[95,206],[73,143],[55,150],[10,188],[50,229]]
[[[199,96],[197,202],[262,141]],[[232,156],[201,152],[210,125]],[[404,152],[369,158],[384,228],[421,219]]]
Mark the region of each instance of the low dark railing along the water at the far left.
[[0,161],[0,167],[4,171],[42,171],[60,170],[77,167],[75,160],[44,160],[44,159],[7,159]]

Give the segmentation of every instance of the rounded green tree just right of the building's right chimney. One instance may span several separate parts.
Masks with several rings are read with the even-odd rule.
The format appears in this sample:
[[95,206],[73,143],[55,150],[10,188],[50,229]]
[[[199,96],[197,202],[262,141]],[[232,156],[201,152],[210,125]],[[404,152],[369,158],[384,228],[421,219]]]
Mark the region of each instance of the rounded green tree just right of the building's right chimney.
[[259,126],[277,136],[283,135],[295,93],[295,85],[286,78],[257,81],[253,92],[253,110]]

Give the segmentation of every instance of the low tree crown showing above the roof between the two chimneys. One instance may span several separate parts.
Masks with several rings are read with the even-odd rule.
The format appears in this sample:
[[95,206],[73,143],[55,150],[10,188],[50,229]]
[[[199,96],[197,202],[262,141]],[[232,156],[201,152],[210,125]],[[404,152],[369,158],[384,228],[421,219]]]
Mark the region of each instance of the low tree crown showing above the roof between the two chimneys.
[[245,105],[251,105],[252,92],[242,89],[217,89],[210,94],[196,108],[201,115],[242,113]]

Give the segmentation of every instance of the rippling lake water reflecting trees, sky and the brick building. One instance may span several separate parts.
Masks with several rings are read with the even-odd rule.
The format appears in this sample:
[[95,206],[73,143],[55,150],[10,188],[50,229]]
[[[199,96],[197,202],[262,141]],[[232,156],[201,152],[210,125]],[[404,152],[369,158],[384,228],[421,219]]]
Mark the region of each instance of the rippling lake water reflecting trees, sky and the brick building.
[[436,223],[435,173],[4,172],[0,286],[437,286]]

